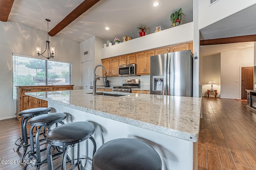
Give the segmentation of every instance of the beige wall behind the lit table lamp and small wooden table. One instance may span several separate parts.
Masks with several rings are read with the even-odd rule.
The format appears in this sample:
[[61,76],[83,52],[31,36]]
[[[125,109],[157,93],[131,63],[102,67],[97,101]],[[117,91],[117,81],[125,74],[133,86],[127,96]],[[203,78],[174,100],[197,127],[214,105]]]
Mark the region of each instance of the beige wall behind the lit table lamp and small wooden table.
[[[211,89],[211,84],[208,84],[208,82],[211,80],[216,82],[212,86],[218,92],[216,97],[220,96],[220,74],[220,53],[200,58],[199,78],[200,84],[202,84],[202,96],[208,96],[207,90]],[[213,94],[210,96],[213,96]]]

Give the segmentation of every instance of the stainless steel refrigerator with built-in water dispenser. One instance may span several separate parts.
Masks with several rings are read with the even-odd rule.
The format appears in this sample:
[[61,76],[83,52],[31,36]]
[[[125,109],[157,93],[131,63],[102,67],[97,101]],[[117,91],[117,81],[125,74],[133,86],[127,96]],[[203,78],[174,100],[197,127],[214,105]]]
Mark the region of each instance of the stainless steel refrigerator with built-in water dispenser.
[[192,96],[192,53],[177,51],[150,57],[150,94]]

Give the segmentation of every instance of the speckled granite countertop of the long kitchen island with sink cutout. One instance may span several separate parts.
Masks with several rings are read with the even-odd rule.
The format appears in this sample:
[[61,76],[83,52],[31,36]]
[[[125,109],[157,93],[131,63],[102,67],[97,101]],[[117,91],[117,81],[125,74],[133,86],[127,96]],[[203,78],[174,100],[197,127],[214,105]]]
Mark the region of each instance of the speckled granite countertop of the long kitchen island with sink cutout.
[[93,96],[90,92],[92,90],[25,94],[186,141],[198,141],[201,98],[121,92],[104,93],[125,96]]

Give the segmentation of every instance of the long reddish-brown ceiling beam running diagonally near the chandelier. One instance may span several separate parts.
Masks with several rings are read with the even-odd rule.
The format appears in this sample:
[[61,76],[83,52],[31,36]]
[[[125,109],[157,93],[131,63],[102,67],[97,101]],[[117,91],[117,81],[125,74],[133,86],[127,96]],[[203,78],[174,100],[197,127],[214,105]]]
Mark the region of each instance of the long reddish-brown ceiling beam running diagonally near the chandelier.
[[72,21],[76,20],[80,15],[84,14],[88,9],[94,6],[100,0],[84,0],[76,9],[74,9],[68,16],[66,16],[60,23],[58,23],[51,31],[49,31],[50,36],[54,36],[64,29]]

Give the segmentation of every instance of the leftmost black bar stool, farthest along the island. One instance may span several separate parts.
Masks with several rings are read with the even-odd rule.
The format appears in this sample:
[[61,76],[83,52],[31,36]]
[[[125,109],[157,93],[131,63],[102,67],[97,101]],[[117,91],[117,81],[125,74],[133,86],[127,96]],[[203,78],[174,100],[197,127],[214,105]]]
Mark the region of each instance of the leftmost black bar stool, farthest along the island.
[[23,153],[21,156],[21,159],[23,161],[25,154],[27,152],[27,149],[29,147],[30,144],[28,144],[28,132],[27,132],[27,123],[28,120],[31,117],[37,116],[37,115],[41,115],[41,114],[45,114],[48,113],[49,111],[51,111],[50,108],[48,107],[37,107],[37,108],[32,108],[32,109],[26,109],[23,110],[21,112],[18,113],[19,116],[22,116],[22,120],[21,120],[21,133],[22,136],[18,139],[20,140],[20,144],[18,144],[18,140],[15,141],[15,145],[19,146],[18,149],[16,151],[19,151],[21,147],[23,147]]

